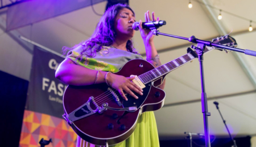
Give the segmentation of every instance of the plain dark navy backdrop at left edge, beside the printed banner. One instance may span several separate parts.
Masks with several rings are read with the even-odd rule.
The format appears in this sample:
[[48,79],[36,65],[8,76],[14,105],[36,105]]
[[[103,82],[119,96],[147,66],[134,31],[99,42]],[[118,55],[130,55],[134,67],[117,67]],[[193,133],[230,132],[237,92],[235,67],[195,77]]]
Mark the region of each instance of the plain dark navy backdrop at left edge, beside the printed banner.
[[0,146],[19,146],[28,81],[0,71]]

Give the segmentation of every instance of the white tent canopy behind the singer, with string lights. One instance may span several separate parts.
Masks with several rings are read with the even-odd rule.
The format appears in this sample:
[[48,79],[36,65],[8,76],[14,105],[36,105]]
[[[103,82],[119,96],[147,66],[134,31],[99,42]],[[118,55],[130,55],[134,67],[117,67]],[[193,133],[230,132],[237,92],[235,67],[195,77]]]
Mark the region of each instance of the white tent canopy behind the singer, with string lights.
[[[222,20],[217,20],[219,10],[191,1],[134,1],[130,6],[136,14],[136,20],[144,20],[144,12],[154,11],[167,25],[160,32],[201,40],[231,33],[238,48],[256,50],[256,32],[249,32],[249,21],[222,12]],[[245,0],[202,0],[221,10],[231,12],[247,19],[256,20],[256,1]],[[103,14],[106,2],[94,5],[94,9]],[[18,35],[26,37],[40,45],[61,53],[63,46],[79,44],[90,37],[100,16],[93,13],[91,7],[81,8],[68,14],[47,19],[14,31],[5,32],[6,9],[0,11],[0,70],[29,80],[31,67],[31,45],[20,43]],[[255,26],[252,23],[253,27]],[[256,30],[256,28],[254,29]],[[139,53],[144,54],[142,38],[137,32],[133,38]],[[187,53],[189,42],[171,37],[156,36],[155,46],[162,63]],[[28,47],[26,47],[28,46]],[[220,110],[233,135],[256,134],[256,58],[241,53],[229,53],[214,50],[204,55],[205,88],[208,98],[209,130],[211,135],[227,135],[220,114],[213,101],[220,103]],[[203,114],[201,113],[201,83],[199,62],[197,59],[166,76],[165,105],[155,111],[160,136],[182,136],[185,131],[204,133]],[[245,93],[249,92],[249,93]],[[233,94],[233,96],[226,96]],[[226,96],[226,97],[223,97]],[[192,100],[198,100],[192,102]],[[172,105],[173,104],[173,105]],[[172,105],[172,106],[168,106]]]

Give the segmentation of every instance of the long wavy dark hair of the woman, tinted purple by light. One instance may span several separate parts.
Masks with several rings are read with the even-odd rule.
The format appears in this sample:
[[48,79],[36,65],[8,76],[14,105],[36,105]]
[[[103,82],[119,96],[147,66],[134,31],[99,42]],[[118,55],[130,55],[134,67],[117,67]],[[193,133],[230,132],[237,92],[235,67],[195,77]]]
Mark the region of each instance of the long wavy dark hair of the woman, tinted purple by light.
[[[109,7],[108,10],[102,16],[100,22],[98,23],[96,31],[94,32],[93,36],[89,38],[89,40],[86,40],[84,43],[81,44],[83,46],[83,51],[81,52],[81,55],[85,54],[87,57],[93,58],[96,56],[96,52],[102,49],[102,46],[113,45],[113,42],[116,37],[116,31],[114,29],[115,16],[117,16],[118,12],[123,8],[131,10],[131,12],[133,12],[133,14],[135,15],[134,11],[127,5],[118,3],[117,5]],[[73,46],[70,49],[69,47],[64,46],[63,52],[65,54],[67,50],[72,50],[76,47],[77,45]],[[126,49],[131,53],[138,54],[138,52],[133,47],[133,42],[131,40],[127,41]]]

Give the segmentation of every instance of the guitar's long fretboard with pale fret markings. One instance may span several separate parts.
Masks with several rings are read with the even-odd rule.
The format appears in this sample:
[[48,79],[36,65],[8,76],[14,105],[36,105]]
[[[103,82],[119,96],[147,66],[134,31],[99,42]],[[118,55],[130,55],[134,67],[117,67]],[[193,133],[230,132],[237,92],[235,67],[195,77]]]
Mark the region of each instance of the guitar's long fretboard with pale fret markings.
[[[212,50],[213,47],[205,47],[204,53],[207,53],[208,51]],[[196,51],[194,51],[196,53]],[[197,54],[197,53],[196,53]],[[159,77],[168,74],[169,72],[175,70],[176,68],[179,68],[183,66],[185,63],[190,62],[191,60],[195,59],[191,53],[185,54],[177,59],[172,60],[171,62],[168,62],[166,64],[163,64],[162,66],[159,66],[157,68],[154,68],[151,71],[145,72],[142,75],[139,75],[139,79],[144,84],[147,84],[150,81],[154,81],[158,79]]]

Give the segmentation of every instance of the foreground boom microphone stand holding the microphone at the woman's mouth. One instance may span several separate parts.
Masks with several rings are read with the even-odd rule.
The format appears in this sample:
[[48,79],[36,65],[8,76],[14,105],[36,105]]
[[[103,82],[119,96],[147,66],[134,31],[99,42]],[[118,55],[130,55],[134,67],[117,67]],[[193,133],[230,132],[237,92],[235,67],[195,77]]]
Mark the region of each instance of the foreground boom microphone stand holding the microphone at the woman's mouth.
[[208,116],[210,116],[210,113],[208,112],[207,94],[205,93],[205,84],[204,84],[204,67],[203,67],[204,48],[205,48],[205,46],[215,46],[218,48],[228,49],[228,50],[232,50],[232,51],[238,51],[240,53],[245,53],[247,55],[253,55],[253,56],[256,56],[256,51],[243,50],[243,49],[238,49],[238,48],[234,48],[234,47],[213,44],[210,41],[199,40],[195,36],[186,38],[186,37],[181,37],[181,36],[175,36],[172,34],[160,33],[156,27],[150,27],[150,29],[156,36],[158,36],[160,34],[163,36],[179,38],[182,40],[188,40],[189,42],[193,42],[193,43],[197,44],[196,47],[192,46],[192,48],[196,50],[196,52],[198,54],[198,58],[199,58],[199,63],[200,63],[201,90],[202,90],[201,106],[202,106],[202,113],[203,113],[203,118],[204,118],[205,147],[210,147],[210,135],[209,135],[209,126],[208,126]]

